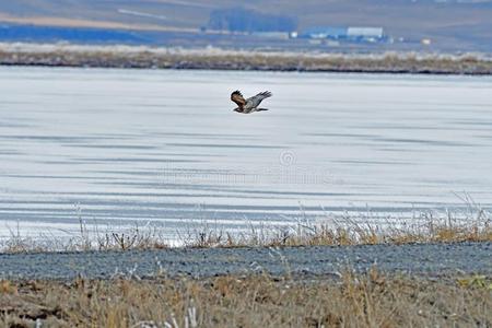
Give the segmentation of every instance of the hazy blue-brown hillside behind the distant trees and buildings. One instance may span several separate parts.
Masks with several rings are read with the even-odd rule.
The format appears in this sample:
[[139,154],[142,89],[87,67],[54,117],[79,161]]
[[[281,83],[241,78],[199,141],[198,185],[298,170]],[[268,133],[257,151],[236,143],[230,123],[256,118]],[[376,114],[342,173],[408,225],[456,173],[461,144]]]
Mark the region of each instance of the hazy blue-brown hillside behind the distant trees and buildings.
[[[301,31],[380,26],[393,38],[414,45],[429,38],[436,49],[492,50],[492,0],[15,0],[0,1],[0,25],[142,32],[129,36],[139,43],[153,39],[149,33],[160,32],[196,33],[200,37],[200,27],[209,24],[212,12],[238,7],[265,17],[293,17]],[[57,37],[55,33],[54,39]],[[115,37],[118,42],[125,36]],[[168,45],[173,37],[163,39]],[[5,40],[1,32],[0,40]],[[153,40],[160,43],[159,37]]]

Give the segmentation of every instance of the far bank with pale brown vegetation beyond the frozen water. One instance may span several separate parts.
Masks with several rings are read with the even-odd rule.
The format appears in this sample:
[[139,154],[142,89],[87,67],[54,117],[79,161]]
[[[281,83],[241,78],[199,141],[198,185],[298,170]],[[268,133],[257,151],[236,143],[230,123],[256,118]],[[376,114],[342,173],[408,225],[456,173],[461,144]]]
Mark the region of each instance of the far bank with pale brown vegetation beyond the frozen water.
[[411,74],[492,74],[492,57],[480,54],[377,55],[270,52],[131,46],[0,44],[0,65],[133,69],[257,70]]

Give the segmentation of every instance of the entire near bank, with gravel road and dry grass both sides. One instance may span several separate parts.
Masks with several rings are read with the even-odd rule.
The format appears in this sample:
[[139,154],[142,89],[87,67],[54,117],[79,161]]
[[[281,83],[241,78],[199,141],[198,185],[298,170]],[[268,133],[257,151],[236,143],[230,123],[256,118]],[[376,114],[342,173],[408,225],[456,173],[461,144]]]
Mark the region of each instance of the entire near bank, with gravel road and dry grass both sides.
[[434,222],[431,235],[422,226],[306,227],[266,239],[202,231],[185,248],[118,233],[106,235],[110,251],[0,254],[0,326],[488,327],[483,220]]

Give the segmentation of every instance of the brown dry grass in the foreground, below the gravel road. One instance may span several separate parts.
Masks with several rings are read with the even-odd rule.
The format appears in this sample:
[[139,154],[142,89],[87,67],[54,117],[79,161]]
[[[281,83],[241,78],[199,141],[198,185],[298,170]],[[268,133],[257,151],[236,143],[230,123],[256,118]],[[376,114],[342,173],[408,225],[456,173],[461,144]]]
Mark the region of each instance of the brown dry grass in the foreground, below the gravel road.
[[[4,327],[491,327],[490,278],[0,283]],[[38,326],[40,327],[40,326]]]

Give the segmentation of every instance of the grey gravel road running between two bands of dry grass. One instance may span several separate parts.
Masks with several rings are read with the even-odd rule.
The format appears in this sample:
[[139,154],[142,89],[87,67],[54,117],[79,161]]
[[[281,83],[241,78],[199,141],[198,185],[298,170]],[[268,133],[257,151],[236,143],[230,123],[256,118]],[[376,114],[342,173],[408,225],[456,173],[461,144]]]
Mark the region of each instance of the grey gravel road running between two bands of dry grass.
[[208,248],[0,255],[0,279],[71,280],[78,276],[195,278],[235,273],[337,274],[344,268],[417,276],[492,273],[492,243],[344,247]]

